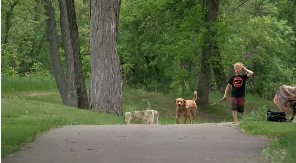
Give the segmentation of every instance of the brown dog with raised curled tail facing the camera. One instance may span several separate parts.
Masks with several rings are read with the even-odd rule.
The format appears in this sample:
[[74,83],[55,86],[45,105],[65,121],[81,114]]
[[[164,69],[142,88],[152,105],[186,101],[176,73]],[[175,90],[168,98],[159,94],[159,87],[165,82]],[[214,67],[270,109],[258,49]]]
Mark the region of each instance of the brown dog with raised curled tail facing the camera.
[[[185,116],[184,124],[187,122],[187,118],[189,118],[189,122],[191,124],[194,123],[195,120],[195,111],[196,111],[196,101],[197,99],[197,92],[194,91],[193,99],[192,100],[184,100],[182,98],[177,98],[175,100],[175,104],[177,105],[177,113],[176,113],[176,123],[179,124],[179,118],[181,115]],[[193,121],[191,121],[190,114],[193,117]]]

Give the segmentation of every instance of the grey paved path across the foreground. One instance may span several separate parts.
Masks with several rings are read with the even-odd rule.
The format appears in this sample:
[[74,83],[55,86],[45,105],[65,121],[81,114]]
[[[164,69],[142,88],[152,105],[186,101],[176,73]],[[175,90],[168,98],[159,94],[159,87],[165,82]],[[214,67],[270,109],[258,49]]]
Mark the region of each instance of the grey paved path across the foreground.
[[266,143],[226,124],[65,126],[38,135],[1,162],[263,163]]

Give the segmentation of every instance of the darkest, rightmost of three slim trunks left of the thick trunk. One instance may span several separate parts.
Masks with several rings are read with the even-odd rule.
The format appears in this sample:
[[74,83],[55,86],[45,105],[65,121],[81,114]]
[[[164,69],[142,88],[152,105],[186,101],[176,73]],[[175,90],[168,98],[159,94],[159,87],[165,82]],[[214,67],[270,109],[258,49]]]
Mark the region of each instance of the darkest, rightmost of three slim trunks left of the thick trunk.
[[67,15],[69,21],[70,37],[72,42],[74,56],[75,84],[78,96],[78,108],[88,109],[87,91],[80,59],[79,42],[78,42],[78,26],[76,21],[76,13],[74,0],[67,0]]

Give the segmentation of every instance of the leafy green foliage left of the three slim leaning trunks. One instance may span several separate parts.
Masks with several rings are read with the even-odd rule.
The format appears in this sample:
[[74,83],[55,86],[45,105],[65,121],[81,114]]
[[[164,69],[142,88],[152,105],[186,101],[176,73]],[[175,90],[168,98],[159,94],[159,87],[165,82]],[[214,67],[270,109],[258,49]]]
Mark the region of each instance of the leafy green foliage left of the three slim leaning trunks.
[[49,69],[41,1],[1,1],[1,10],[2,74],[24,75],[33,63],[46,64]]

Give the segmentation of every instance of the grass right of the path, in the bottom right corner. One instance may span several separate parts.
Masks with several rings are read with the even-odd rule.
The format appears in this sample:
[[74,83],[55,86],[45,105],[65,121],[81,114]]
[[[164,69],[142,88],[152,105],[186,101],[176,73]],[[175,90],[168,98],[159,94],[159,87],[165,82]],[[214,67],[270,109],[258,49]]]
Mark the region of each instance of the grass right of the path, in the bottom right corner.
[[246,134],[275,138],[263,152],[265,159],[273,163],[296,162],[296,123],[265,121],[266,108],[246,115],[239,127]]

